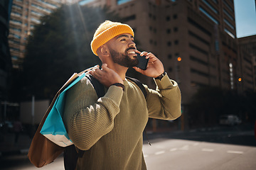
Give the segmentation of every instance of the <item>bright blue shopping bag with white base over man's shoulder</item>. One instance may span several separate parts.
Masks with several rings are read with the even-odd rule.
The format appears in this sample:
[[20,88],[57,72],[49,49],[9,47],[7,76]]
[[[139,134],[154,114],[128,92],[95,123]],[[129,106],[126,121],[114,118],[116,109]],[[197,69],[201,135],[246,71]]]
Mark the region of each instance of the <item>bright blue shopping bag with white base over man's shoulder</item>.
[[68,147],[69,145],[73,145],[73,142],[70,140],[70,137],[68,137],[68,132],[63,123],[65,94],[68,89],[78,83],[78,81],[80,81],[80,79],[83,77],[85,77],[85,73],[82,73],[63,92],[60,93],[40,131],[40,133],[47,137],[48,140],[54,142],[60,147]]

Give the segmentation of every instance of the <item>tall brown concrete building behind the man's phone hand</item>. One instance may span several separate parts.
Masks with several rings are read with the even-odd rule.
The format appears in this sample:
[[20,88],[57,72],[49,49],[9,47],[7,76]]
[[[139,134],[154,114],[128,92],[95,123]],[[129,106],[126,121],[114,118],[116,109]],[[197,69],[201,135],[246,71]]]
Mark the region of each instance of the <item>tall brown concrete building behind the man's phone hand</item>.
[[[200,86],[238,89],[233,0],[83,0],[119,14],[135,31],[139,50],[153,52],[178,81],[183,104]],[[151,79],[146,80],[153,86]]]

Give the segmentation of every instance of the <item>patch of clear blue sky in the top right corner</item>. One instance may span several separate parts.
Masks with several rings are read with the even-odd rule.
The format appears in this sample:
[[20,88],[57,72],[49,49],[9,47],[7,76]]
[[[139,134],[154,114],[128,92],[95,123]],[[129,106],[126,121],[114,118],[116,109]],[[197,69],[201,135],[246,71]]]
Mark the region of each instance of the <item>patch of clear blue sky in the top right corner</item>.
[[255,0],[234,0],[237,37],[256,35]]

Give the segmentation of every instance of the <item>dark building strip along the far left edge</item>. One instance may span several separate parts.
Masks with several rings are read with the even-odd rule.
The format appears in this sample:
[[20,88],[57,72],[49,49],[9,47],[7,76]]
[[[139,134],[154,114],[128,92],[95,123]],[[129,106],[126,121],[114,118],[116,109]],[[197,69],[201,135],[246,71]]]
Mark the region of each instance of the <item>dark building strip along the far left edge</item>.
[[[9,76],[11,74],[11,55],[8,35],[11,15],[11,0],[0,1],[0,106],[8,99]],[[0,120],[4,109],[0,107]]]

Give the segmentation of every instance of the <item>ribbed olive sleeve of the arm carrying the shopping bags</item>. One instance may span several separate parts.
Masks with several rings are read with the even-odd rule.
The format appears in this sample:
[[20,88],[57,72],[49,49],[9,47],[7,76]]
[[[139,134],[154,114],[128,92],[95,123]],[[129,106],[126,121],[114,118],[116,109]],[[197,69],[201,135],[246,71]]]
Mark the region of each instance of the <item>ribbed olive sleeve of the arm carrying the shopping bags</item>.
[[121,88],[110,86],[105,96],[98,98],[86,77],[68,90],[64,123],[76,147],[90,149],[100,137],[112,130],[122,94]]

